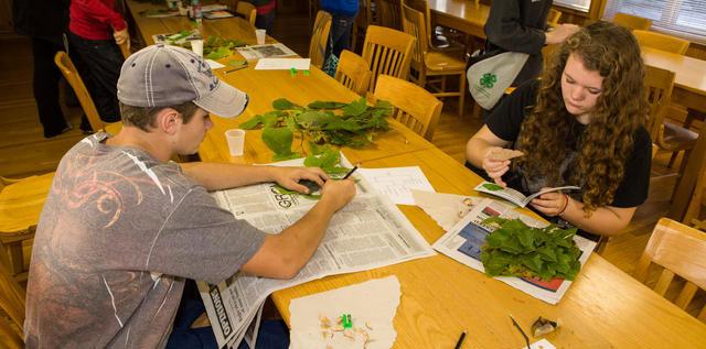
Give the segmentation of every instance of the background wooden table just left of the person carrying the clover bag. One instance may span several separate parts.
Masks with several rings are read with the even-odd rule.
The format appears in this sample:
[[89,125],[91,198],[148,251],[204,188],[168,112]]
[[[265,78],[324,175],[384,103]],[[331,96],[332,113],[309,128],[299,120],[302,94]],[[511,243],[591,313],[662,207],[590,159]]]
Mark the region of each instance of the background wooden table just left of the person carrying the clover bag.
[[432,22],[485,39],[490,6],[468,0],[429,0]]

